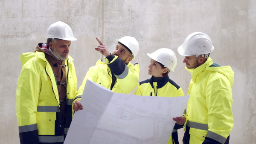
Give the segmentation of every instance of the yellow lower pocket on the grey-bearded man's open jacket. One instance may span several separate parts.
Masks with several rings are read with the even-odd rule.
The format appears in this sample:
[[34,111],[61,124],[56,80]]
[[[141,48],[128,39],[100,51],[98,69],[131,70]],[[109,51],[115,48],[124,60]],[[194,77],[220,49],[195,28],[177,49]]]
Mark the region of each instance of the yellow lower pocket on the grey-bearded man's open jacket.
[[56,112],[37,112],[38,135],[54,135]]

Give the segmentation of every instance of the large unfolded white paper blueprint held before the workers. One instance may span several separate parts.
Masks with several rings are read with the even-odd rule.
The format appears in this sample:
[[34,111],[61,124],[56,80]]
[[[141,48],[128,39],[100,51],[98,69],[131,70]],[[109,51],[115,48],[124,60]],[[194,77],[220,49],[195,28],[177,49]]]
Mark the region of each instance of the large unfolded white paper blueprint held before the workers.
[[166,144],[189,96],[114,93],[87,80],[64,144]]

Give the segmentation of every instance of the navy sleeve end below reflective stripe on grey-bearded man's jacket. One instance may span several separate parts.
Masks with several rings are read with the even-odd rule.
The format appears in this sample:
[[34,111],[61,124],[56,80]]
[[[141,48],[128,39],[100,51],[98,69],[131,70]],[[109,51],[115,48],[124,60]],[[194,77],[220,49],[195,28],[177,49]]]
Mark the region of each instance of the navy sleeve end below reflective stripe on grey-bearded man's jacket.
[[20,132],[20,144],[39,144],[38,130]]

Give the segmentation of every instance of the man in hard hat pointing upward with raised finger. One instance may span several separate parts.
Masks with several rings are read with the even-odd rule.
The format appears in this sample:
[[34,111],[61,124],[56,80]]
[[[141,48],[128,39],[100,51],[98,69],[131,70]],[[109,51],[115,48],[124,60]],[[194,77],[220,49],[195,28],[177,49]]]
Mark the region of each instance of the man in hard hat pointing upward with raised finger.
[[105,56],[106,63],[98,60],[96,66],[90,67],[86,73],[83,84],[76,93],[73,102],[73,109],[75,111],[83,109],[80,100],[87,79],[113,92],[124,94],[130,94],[138,84],[139,65],[130,63],[139,52],[139,43],[137,40],[129,36],[120,38],[117,40],[116,48],[111,54],[106,45],[97,37],[96,39],[100,45],[95,50]]

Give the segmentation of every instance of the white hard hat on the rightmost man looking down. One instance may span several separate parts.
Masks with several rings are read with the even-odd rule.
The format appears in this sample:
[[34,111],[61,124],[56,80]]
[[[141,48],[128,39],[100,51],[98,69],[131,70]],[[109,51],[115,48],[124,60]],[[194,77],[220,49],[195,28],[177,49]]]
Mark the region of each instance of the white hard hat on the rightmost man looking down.
[[213,49],[212,40],[207,34],[193,32],[186,37],[184,43],[179,46],[178,52],[183,56],[204,55],[209,54]]

